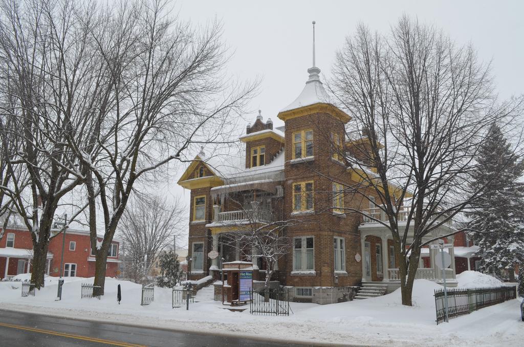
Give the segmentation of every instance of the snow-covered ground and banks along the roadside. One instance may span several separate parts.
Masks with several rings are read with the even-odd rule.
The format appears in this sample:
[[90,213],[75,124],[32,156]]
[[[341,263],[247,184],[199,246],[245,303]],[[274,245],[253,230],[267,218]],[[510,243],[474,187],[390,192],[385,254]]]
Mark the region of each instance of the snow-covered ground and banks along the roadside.
[[[479,275],[482,274],[465,273],[457,278],[460,285],[486,287],[490,279]],[[397,290],[383,297],[324,306],[291,303],[294,314],[289,317],[252,316],[249,309],[244,312],[223,309],[220,302],[213,301],[212,286],[200,290],[195,303],[186,311],[171,308],[171,289],[165,288],[155,288],[155,301],[142,307],[140,285],[112,278],[106,279],[105,295],[100,301],[80,298],[81,284],[93,283],[93,278],[67,279],[62,301],[54,301],[56,282],[56,278],[46,278],[46,287],[37,291],[35,297],[26,298],[20,297],[20,283],[0,283],[0,305],[5,309],[73,319],[315,344],[521,346],[524,341],[518,299],[437,326],[433,292],[441,287],[422,279],[415,281],[412,307],[401,305]],[[116,302],[118,284],[122,286],[121,305]]]

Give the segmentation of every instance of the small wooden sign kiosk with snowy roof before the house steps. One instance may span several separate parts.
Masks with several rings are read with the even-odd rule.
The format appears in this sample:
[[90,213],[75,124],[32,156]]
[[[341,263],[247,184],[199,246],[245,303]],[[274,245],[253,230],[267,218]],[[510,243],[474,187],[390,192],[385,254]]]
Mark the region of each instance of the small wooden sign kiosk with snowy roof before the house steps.
[[[227,274],[227,284],[224,283]],[[253,290],[253,263],[235,261],[222,263],[222,304],[246,305]]]

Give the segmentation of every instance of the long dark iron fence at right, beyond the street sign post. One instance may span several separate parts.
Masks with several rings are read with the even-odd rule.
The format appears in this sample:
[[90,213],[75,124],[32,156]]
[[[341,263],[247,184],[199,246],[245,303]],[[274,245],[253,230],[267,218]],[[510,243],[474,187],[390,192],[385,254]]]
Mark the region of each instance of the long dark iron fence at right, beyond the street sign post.
[[[468,315],[480,308],[515,299],[517,288],[455,288],[447,289],[447,316],[449,318]],[[435,290],[436,323],[446,319],[444,289]]]

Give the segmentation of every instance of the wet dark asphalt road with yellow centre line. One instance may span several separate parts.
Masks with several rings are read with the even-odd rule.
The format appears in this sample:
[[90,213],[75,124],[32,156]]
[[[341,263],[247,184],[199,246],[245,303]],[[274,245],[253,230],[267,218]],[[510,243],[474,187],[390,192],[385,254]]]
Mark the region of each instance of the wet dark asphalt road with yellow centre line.
[[1,347],[69,346],[305,346],[223,335],[95,323],[0,310]]

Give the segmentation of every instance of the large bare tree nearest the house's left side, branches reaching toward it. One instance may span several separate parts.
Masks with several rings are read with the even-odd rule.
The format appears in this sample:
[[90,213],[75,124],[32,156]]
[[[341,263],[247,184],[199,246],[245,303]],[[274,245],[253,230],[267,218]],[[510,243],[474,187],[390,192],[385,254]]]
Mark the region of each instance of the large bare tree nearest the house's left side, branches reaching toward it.
[[117,4],[103,13],[93,39],[110,71],[110,103],[92,127],[90,145],[72,146],[86,170],[94,283],[101,294],[107,251],[136,182],[155,177],[172,160],[184,161],[188,148],[228,142],[228,125],[255,89],[224,77],[228,56],[217,23],[195,29],[158,0]]

